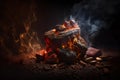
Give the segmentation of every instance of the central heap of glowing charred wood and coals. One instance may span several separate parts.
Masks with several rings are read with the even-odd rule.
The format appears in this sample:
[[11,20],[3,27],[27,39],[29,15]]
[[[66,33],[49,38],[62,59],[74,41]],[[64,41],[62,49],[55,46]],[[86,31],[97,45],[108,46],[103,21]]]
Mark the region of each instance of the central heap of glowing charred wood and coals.
[[[56,29],[46,32],[45,42],[47,54],[50,53],[48,57],[56,54],[57,56],[51,58],[58,57],[59,60],[66,58],[67,62],[72,62],[72,58],[74,62],[76,57],[83,57],[87,50],[86,42],[80,36],[80,28],[75,20],[65,21],[63,25],[57,25]],[[76,55],[76,57],[73,55]],[[71,58],[71,60],[68,58]]]

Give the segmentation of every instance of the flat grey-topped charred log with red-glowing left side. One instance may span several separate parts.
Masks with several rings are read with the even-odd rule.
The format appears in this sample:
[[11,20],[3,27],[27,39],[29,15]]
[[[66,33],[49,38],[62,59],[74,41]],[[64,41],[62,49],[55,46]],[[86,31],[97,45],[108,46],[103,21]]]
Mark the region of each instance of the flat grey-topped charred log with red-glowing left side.
[[[51,48],[55,50],[56,48],[61,47],[62,45],[69,45],[68,42],[73,42],[74,35],[76,35],[77,39],[80,34],[80,28],[71,28],[65,29],[63,31],[52,29],[45,32],[45,42],[47,48]],[[67,46],[68,47],[68,46]]]

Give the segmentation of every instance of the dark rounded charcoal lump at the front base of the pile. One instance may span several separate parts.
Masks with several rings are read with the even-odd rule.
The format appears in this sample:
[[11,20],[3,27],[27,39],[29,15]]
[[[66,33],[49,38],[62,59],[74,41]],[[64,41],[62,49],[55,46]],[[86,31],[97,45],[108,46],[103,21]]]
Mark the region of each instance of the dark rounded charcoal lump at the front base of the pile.
[[60,62],[72,64],[75,62],[76,52],[66,49],[59,49],[58,57]]

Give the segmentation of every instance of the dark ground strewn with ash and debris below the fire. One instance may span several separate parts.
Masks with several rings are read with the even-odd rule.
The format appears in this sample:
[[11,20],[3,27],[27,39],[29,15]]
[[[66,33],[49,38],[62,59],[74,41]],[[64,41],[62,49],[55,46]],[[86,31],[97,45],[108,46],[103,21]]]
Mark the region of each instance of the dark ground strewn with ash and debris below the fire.
[[[17,80],[113,80],[118,77],[119,58],[108,57],[86,57],[74,64],[45,64],[44,61],[36,63],[35,58],[22,63],[4,64],[1,66],[2,79]],[[118,61],[119,62],[119,61]]]

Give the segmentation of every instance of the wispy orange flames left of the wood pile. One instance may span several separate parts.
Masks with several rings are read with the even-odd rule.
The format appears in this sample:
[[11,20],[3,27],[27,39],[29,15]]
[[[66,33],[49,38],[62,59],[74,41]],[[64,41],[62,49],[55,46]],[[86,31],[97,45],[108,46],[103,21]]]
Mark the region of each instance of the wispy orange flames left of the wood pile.
[[25,32],[20,34],[20,53],[36,53],[41,49],[40,40],[36,32],[30,31],[30,23],[24,23]]

